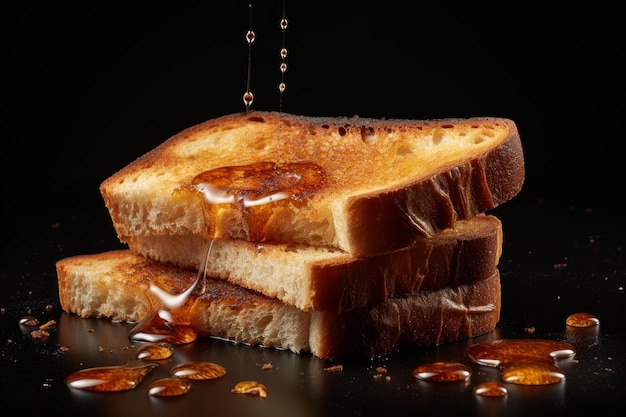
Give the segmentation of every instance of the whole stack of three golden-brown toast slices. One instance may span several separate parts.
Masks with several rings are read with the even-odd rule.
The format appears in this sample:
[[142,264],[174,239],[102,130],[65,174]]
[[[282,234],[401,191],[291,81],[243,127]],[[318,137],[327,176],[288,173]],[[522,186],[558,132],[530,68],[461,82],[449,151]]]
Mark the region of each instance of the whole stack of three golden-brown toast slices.
[[127,250],[57,262],[62,308],[200,335],[374,358],[500,318],[502,224],[524,182],[513,121],[227,115],[167,139],[100,191]]

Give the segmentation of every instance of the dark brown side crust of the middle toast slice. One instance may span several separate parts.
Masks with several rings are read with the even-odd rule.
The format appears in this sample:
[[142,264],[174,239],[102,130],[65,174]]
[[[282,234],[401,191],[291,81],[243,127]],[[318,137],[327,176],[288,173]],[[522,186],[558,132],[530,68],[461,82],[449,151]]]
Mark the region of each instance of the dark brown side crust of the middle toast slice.
[[347,311],[388,298],[469,284],[493,275],[502,247],[502,225],[478,215],[460,229],[391,253],[312,266],[311,310]]

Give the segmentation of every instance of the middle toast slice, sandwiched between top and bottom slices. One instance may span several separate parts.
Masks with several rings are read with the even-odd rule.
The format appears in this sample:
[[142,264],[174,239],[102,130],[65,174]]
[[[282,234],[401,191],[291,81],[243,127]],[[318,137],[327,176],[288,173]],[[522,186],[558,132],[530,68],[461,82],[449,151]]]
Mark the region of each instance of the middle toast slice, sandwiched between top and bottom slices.
[[[206,271],[304,311],[346,311],[420,289],[486,279],[498,265],[502,224],[479,214],[411,246],[366,257],[311,246],[217,239]],[[210,244],[199,235],[139,236],[141,255],[200,269]]]

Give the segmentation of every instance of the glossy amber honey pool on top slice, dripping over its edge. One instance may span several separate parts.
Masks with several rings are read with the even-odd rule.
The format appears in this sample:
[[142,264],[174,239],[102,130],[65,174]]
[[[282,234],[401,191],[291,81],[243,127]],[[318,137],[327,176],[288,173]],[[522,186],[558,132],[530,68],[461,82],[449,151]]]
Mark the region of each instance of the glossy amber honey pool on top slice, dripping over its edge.
[[[193,179],[192,187],[204,196],[206,237],[264,241],[265,226],[280,214],[269,203],[302,202],[325,183],[324,169],[313,162],[265,161],[202,172]],[[235,223],[239,227],[233,228]],[[224,236],[222,230],[231,232]],[[232,230],[237,230],[235,235]]]

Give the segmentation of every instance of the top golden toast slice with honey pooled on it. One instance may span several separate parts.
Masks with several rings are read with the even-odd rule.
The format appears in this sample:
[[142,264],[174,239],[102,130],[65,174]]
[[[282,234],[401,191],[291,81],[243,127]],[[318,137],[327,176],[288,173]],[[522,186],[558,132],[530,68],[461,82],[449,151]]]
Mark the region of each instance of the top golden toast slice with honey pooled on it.
[[190,127],[100,186],[119,239],[201,235],[366,256],[431,237],[513,198],[515,123],[278,112]]

